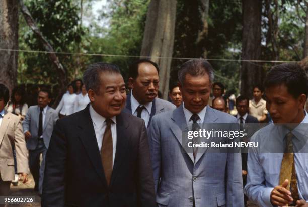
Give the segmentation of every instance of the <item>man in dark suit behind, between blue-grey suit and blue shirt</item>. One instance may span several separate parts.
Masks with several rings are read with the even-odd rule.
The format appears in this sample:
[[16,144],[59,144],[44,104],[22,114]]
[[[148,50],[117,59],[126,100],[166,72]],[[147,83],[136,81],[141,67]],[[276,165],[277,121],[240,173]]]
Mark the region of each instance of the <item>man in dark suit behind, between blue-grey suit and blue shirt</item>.
[[[250,130],[248,129],[248,124],[257,124],[259,123],[258,119],[249,115],[249,98],[244,96],[244,95],[240,95],[237,99],[236,99],[236,108],[238,110],[238,114],[235,116],[238,119],[238,122],[241,126],[242,129],[245,129],[246,132],[250,132]],[[251,125],[250,127],[252,128],[256,128],[253,127],[253,125]],[[245,139],[247,139],[246,141],[249,141],[249,138],[253,135],[253,133],[249,133],[249,135],[247,135],[247,137]],[[247,152],[242,153],[242,175],[243,175],[243,187],[245,187],[246,185],[246,181],[247,181]],[[244,202],[247,202],[247,197],[246,195],[244,195]]]

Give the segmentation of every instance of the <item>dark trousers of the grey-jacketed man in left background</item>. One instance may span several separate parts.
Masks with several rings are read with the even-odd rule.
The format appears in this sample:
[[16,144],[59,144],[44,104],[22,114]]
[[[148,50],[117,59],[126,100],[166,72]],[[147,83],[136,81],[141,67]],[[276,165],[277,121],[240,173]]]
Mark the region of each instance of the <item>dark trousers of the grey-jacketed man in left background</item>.
[[[46,147],[43,139],[40,139],[35,150],[29,150],[29,168],[33,175],[35,182],[35,190],[38,190],[42,194],[43,189],[43,179],[44,179],[44,169],[45,169],[45,155]],[[43,155],[43,160],[40,165],[40,155]]]

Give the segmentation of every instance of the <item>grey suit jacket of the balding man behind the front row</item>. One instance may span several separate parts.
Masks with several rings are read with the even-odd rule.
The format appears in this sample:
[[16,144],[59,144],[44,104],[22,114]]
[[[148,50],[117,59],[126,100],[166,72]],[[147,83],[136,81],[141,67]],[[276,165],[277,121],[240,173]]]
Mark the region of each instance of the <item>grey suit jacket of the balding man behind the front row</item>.
[[[131,102],[130,102],[130,97],[131,97],[131,93],[129,93],[127,95],[127,99],[126,99],[126,106],[124,112],[131,112]],[[162,113],[162,112],[166,112],[166,111],[170,111],[170,110],[174,110],[175,108],[177,108],[174,104],[172,104],[171,102],[167,101],[167,100],[163,100],[160,98],[155,98],[153,100],[153,104],[152,104],[152,109],[151,109],[151,114],[150,114],[150,118],[147,124],[147,128],[150,126],[151,123],[151,119],[154,115]]]

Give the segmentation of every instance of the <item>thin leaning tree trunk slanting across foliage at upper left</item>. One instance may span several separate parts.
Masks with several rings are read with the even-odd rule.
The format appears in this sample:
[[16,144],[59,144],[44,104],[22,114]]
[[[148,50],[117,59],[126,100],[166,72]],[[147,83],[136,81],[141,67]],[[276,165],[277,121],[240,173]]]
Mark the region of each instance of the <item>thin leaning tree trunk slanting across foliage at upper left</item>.
[[55,107],[60,102],[62,95],[66,91],[66,86],[67,86],[66,71],[64,70],[62,64],[60,63],[58,57],[56,56],[52,46],[49,44],[49,42],[44,38],[43,34],[40,32],[28,8],[24,5],[23,0],[20,0],[20,6],[21,6],[21,11],[24,15],[24,18],[27,24],[29,25],[31,30],[37,35],[38,39],[43,43],[46,51],[48,52],[49,59],[52,62],[53,66],[55,67],[56,73],[59,75],[58,83],[60,87],[60,93],[58,94],[58,96],[56,97],[54,101],[53,107]]

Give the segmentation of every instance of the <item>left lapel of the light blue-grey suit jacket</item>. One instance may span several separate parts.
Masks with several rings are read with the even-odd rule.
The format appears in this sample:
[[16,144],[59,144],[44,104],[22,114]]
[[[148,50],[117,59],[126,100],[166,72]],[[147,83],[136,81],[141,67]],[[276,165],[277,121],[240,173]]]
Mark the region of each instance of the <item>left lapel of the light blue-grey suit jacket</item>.
[[[182,133],[187,133],[187,130],[188,130],[182,105],[173,111],[171,119],[175,122],[175,124],[172,124],[170,126],[170,129],[171,129],[174,136],[177,138],[177,140],[179,141],[179,143],[181,144],[181,147],[182,147],[183,146],[182,144],[185,144],[185,145],[187,144],[187,143],[182,143],[182,136],[183,136]],[[185,136],[185,137],[187,137],[187,136]],[[188,139],[187,139],[187,142],[188,142]],[[187,155],[190,157],[191,161],[194,162],[194,155],[193,155],[192,151],[189,152],[183,147],[182,147],[182,149],[187,153]]]

